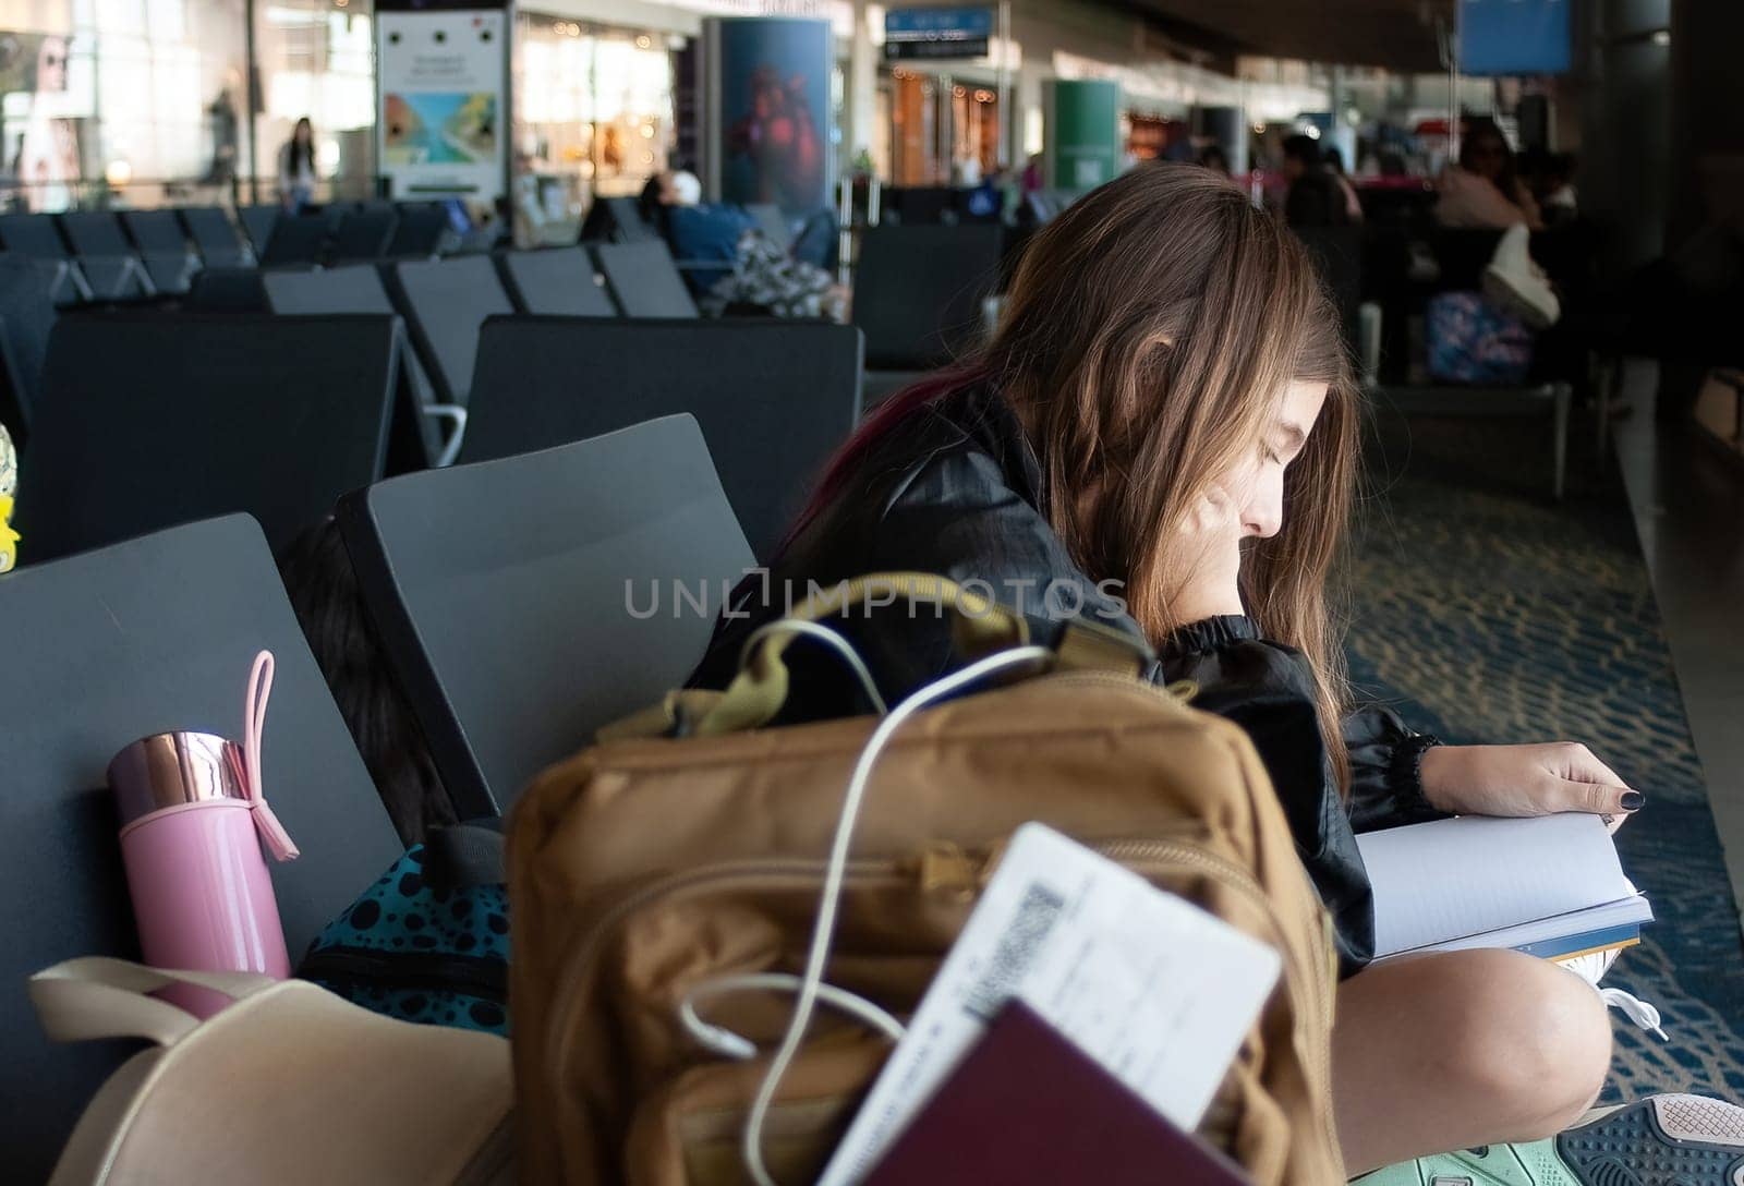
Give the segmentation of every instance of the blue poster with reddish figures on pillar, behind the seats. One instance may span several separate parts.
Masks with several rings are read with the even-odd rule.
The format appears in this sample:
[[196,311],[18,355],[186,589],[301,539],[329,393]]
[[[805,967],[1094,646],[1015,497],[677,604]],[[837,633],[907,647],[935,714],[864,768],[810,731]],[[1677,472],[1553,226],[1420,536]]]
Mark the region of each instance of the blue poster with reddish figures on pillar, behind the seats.
[[830,204],[828,21],[720,17],[708,24],[720,112],[720,201],[785,211]]

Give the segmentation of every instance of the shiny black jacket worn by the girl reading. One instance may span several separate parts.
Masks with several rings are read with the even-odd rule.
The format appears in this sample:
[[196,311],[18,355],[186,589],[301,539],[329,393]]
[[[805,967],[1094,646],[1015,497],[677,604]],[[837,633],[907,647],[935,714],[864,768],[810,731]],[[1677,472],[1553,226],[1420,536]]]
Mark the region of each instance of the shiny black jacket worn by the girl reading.
[[[935,572],[1020,609],[1038,640],[1074,612],[1141,635],[1118,586],[1090,581],[1038,511],[1041,467],[1010,408],[987,392],[950,396],[910,417],[867,457],[839,497],[783,551],[767,576],[746,577],[692,684],[726,687],[745,637],[799,603],[807,583],[867,572]],[[980,584],[975,584],[980,583]],[[952,666],[950,631],[931,610],[891,609],[830,623],[867,661],[886,703]],[[785,722],[869,712],[841,661],[818,647],[788,651]],[[1196,708],[1235,720],[1254,741],[1315,888],[1332,912],[1346,975],[1374,952],[1374,910],[1355,832],[1437,818],[1418,762],[1432,738],[1381,708],[1352,713],[1350,799],[1339,799],[1320,738],[1313,678],[1301,652],[1261,637],[1249,617],[1193,623],[1158,649],[1149,678],[1189,678]]]

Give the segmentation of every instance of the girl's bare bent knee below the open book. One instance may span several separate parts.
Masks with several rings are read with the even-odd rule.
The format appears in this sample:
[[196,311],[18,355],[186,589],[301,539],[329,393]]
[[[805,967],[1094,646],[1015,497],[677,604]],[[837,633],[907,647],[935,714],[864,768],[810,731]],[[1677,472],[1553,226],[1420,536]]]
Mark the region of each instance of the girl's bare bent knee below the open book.
[[1338,991],[1332,1106],[1350,1174],[1538,1141],[1604,1085],[1611,1022],[1589,984],[1512,951],[1371,966]]

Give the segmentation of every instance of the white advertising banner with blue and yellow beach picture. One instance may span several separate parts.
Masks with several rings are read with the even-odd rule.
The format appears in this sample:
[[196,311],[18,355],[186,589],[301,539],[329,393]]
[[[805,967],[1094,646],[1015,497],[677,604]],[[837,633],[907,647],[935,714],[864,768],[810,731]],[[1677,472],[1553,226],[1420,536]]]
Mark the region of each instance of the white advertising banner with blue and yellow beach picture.
[[396,199],[508,192],[509,10],[375,7],[377,160]]

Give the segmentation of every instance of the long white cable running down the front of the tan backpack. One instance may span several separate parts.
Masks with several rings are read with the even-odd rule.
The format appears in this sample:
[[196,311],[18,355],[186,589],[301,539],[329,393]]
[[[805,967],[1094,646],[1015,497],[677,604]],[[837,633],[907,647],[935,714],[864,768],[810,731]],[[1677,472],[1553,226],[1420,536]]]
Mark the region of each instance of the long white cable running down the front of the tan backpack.
[[[792,626],[799,623],[788,624]],[[842,640],[842,645],[846,645],[846,640]],[[855,658],[858,659],[858,656]],[[928,705],[944,699],[957,689],[985,678],[994,671],[1034,663],[1048,663],[1052,658],[1053,652],[1046,647],[1013,647],[1010,651],[987,656],[985,659],[978,659],[959,671],[952,671],[950,675],[921,687],[896,705],[889,715],[879,722],[879,727],[872,731],[872,740],[867,741],[865,750],[860,752],[860,760],[855,764],[855,774],[848,781],[848,795],[842,799],[842,813],[835,823],[835,841],[830,846],[830,863],[823,876],[823,893],[818,900],[818,919],[811,930],[811,951],[806,958],[806,973],[799,985],[799,1001],[794,1005],[794,1017],[788,1020],[787,1034],[781,1038],[781,1046],[776,1050],[774,1059],[769,1062],[769,1071],[764,1074],[764,1080],[757,1088],[757,1097],[752,1101],[752,1111],[745,1118],[745,1169],[750,1172],[752,1181],[757,1183],[757,1186],[776,1186],[774,1179],[769,1177],[769,1169],[764,1165],[762,1156],[764,1121],[769,1116],[769,1106],[774,1101],[776,1088],[781,1085],[781,1076],[787,1074],[788,1066],[794,1062],[794,1055],[799,1053],[799,1045],[806,1038],[806,1029],[811,1026],[811,1015],[816,1010],[818,998],[821,996],[823,968],[830,959],[830,944],[835,938],[835,912],[841,905],[842,879],[848,874],[848,849],[855,839],[855,823],[860,820],[860,804],[865,799],[872,764],[877,762],[877,757],[889,743],[891,734],[895,734],[909,717]]]

